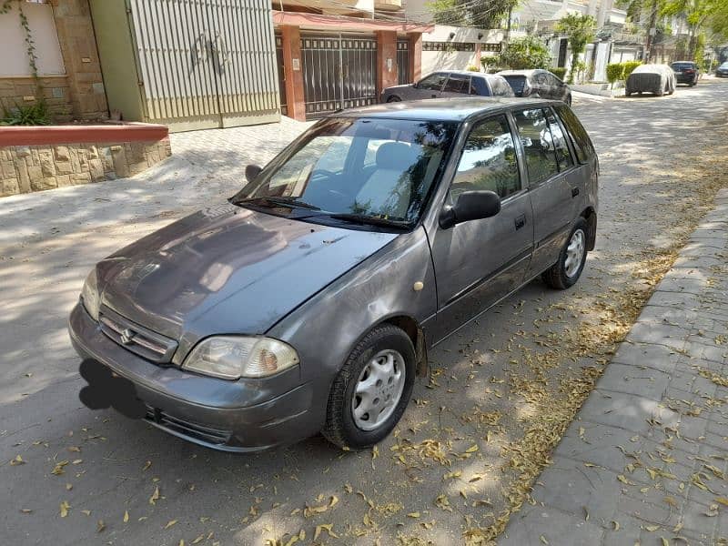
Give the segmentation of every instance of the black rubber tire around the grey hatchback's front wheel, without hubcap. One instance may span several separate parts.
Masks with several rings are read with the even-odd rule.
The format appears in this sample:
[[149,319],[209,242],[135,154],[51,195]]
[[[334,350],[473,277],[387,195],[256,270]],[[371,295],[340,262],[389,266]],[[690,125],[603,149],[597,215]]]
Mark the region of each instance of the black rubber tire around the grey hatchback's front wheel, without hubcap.
[[[356,425],[352,415],[354,389],[362,370],[369,365],[369,359],[385,349],[398,351],[404,359],[404,389],[389,419],[374,430],[362,430]],[[349,450],[363,450],[384,440],[410,403],[415,380],[415,359],[412,340],[403,330],[391,324],[372,329],[351,351],[349,359],[334,379],[329,392],[326,424],[321,430],[324,437],[340,448]]]

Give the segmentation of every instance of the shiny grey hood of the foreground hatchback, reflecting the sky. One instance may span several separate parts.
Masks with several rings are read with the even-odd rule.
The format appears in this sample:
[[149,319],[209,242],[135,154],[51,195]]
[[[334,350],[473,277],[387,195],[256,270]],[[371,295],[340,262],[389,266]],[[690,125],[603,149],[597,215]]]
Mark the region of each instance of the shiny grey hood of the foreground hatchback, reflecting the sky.
[[225,204],[100,262],[99,290],[104,305],[168,338],[263,334],[396,237]]

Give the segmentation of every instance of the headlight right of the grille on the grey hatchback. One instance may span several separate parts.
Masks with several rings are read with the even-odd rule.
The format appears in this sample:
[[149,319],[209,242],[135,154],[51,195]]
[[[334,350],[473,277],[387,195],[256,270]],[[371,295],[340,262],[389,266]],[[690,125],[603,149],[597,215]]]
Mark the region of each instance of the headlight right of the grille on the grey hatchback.
[[296,350],[277,339],[218,336],[200,341],[182,368],[221,379],[239,379],[266,377],[296,364]]

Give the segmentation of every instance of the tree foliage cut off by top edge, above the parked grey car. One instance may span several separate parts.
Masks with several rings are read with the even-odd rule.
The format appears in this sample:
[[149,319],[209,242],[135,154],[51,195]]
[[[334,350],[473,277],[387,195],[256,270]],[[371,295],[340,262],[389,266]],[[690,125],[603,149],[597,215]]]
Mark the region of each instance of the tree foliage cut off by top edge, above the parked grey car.
[[440,25],[499,28],[518,0],[430,0],[432,18]]

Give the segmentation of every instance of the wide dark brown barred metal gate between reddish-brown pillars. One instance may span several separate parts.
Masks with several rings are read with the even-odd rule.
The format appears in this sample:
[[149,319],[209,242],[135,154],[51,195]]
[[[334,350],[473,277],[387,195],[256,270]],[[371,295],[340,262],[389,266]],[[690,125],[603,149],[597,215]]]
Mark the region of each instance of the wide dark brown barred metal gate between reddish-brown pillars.
[[377,102],[377,39],[368,35],[301,35],[306,116]]

